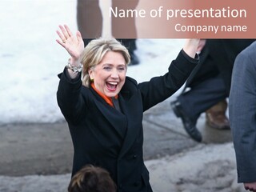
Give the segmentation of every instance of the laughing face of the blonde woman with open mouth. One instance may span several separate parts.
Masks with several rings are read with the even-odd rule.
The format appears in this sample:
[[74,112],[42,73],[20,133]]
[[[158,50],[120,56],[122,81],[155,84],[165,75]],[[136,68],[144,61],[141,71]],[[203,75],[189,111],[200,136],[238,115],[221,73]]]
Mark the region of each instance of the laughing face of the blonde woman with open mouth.
[[126,81],[126,61],[119,52],[108,51],[98,65],[89,70],[94,86],[107,97],[116,96]]

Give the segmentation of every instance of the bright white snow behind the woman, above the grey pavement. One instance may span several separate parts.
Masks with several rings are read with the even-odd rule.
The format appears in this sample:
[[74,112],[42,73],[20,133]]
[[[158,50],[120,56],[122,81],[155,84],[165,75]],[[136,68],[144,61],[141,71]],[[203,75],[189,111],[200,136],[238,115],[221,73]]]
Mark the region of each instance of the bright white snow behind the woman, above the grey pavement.
[[[77,30],[76,0],[0,2],[0,125],[58,122],[57,74],[69,55],[55,42],[59,24]],[[182,48],[181,39],[138,39],[138,66],[127,75],[138,82],[164,74]]]

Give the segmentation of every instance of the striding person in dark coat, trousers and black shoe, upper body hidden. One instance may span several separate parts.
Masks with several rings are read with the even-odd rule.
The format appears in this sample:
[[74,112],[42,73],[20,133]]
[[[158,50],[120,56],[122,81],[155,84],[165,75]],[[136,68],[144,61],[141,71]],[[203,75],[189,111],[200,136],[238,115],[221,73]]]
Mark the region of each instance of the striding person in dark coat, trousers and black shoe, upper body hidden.
[[[215,125],[217,128],[230,128],[225,112],[234,59],[252,42],[253,39],[206,40],[200,54],[200,63],[186,82],[186,87],[190,87],[190,90],[184,90],[170,103],[174,114],[182,118],[186,132],[195,141],[202,142],[202,134],[196,124],[198,117],[205,111],[206,121],[210,126],[216,124],[210,121],[215,118],[221,122],[220,125]],[[213,106],[216,106],[215,109],[211,108]],[[216,111],[215,117],[212,110]]]

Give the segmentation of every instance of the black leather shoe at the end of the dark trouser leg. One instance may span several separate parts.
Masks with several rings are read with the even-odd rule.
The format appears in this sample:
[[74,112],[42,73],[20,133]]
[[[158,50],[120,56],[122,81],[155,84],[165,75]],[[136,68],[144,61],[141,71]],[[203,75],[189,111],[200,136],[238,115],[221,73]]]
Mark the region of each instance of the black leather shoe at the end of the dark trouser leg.
[[190,135],[191,138],[193,138],[196,142],[202,142],[202,134],[198,131],[196,127],[196,122],[193,122],[182,109],[182,106],[180,102],[174,101],[170,102],[170,106],[172,110],[174,110],[174,114],[178,118],[182,118],[183,126],[187,132],[187,134]]

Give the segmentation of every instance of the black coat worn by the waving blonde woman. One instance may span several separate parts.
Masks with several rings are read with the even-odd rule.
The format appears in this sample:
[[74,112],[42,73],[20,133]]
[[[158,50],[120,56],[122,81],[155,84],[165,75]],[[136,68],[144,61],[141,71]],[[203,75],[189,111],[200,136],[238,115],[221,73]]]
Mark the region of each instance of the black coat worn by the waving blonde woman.
[[174,94],[197,63],[198,59],[181,51],[161,77],[139,84],[126,77],[118,94],[122,112],[108,105],[92,87],[82,86],[80,79],[70,81],[65,71],[60,74],[57,98],[74,144],[72,174],[93,164],[110,172],[118,191],[152,191],[143,162],[143,112]]

